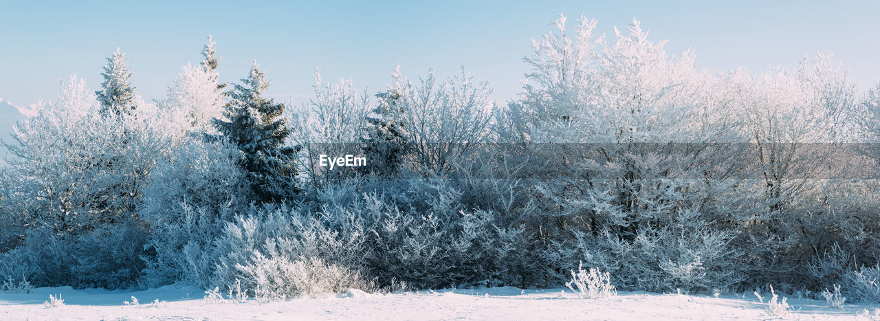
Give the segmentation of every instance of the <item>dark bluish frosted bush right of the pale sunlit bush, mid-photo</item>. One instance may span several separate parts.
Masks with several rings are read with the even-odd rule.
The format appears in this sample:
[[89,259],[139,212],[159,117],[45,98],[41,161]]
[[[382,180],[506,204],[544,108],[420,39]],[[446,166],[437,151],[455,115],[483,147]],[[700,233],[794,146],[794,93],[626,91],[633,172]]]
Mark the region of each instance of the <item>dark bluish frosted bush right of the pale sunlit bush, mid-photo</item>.
[[516,284],[524,255],[523,230],[501,224],[494,212],[468,210],[448,179],[413,179],[410,202],[395,206],[377,195],[365,198],[375,217],[370,266],[380,283],[392,279],[415,288]]

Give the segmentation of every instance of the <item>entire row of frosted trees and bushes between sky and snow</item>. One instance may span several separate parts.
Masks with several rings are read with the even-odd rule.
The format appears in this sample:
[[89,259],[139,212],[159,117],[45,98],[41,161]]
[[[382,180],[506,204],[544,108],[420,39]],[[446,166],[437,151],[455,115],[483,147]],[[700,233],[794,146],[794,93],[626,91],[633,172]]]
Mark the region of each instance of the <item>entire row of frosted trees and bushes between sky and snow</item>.
[[[864,143],[880,138],[880,85],[858,91],[830,55],[710,73],[637,21],[611,39],[596,25],[556,20],[504,105],[465,70],[413,82],[395,69],[375,96],[316,72],[290,113],[256,64],[218,83],[211,40],[146,103],[114,53],[101,91],[72,77],[7,144],[0,276],[278,299],[560,287],[583,263],[624,289],[840,284],[880,302],[866,172],[880,154]],[[321,155],[368,161],[331,171]]]

